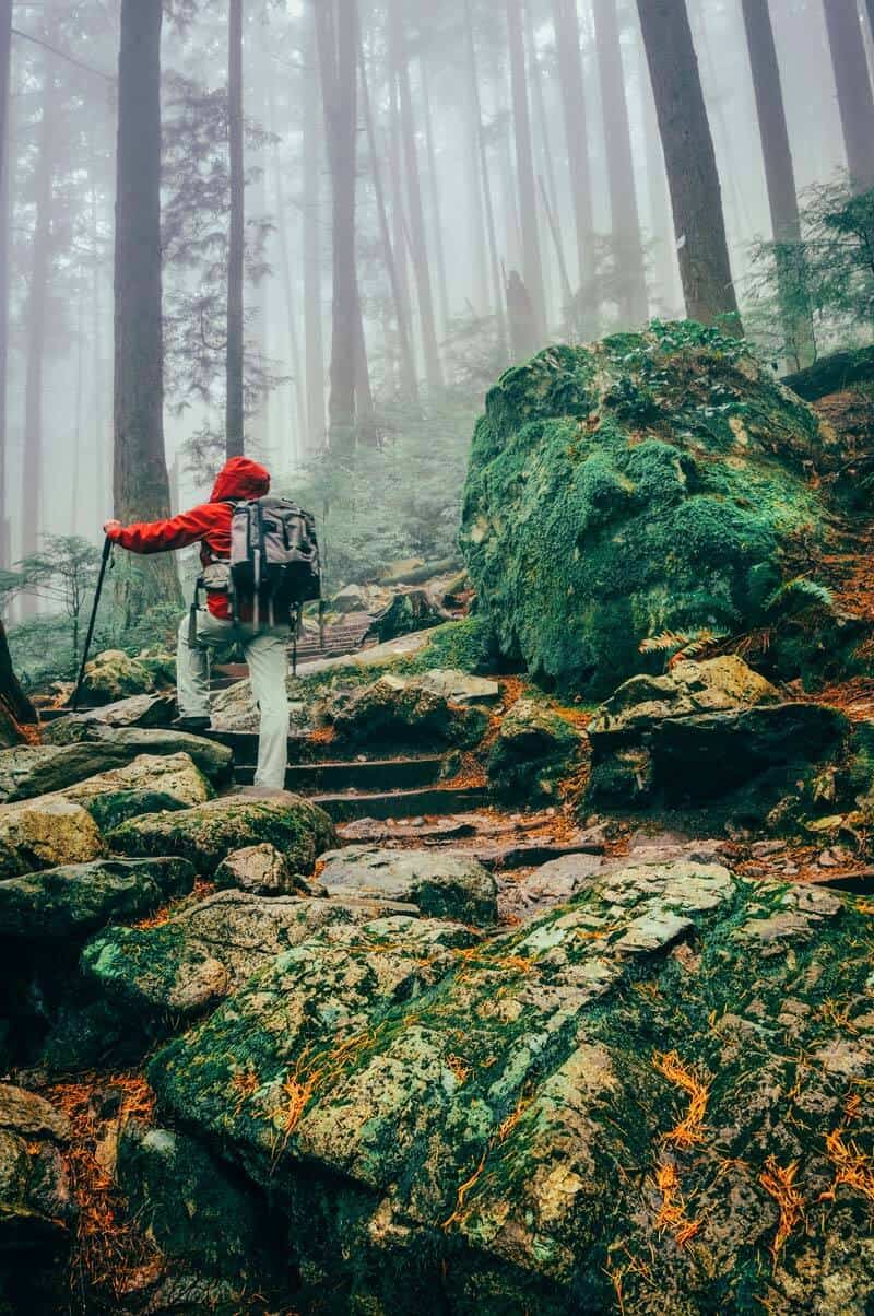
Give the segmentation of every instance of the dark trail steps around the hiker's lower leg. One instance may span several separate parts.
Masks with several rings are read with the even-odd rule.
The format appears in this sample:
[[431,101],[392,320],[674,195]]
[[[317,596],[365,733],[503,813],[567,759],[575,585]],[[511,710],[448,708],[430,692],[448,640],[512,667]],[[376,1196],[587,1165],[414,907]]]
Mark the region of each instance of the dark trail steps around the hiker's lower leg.
[[[247,732],[211,732],[234,751],[234,784],[251,786],[258,737]],[[337,747],[309,736],[288,740],[286,788],[319,804],[336,822],[358,819],[446,817],[483,808],[480,786],[445,779],[440,754],[337,758]]]

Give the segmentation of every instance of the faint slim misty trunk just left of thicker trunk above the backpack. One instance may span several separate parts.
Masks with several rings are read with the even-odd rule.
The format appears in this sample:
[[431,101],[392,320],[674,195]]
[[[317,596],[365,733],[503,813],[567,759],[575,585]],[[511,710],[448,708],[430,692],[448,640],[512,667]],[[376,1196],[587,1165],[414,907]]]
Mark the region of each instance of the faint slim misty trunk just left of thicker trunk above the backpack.
[[319,114],[316,32],[307,42],[303,89],[304,126],[304,357],[307,371],[307,447],[325,438],[325,345],[321,316],[321,157],[324,132]]

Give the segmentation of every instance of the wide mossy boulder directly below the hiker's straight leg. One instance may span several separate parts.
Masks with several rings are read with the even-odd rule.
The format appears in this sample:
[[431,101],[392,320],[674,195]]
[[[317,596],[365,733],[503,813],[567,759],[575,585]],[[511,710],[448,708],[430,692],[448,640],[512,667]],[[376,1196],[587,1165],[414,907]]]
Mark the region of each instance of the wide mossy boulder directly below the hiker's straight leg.
[[200,874],[247,845],[269,842],[295,873],[312,873],[324,850],[337,844],[328,815],[299,795],[255,792],[211,800],[176,813],[149,813],[122,822],[108,836],[120,854],[180,854]]

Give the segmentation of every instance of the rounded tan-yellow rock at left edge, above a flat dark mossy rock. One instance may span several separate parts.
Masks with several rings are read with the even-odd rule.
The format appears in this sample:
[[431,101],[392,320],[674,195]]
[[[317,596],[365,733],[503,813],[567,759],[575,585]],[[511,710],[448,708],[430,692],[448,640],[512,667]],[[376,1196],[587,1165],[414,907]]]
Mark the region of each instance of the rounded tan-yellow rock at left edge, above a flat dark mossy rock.
[[0,805],[0,880],[62,863],[88,863],[105,853],[97,825],[64,799]]

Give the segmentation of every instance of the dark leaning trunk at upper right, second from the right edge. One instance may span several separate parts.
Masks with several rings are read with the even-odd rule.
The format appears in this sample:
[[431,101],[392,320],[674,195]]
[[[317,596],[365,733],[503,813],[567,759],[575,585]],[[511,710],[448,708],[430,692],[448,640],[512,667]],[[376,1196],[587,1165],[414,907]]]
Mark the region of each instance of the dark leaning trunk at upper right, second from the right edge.
[[[795,368],[813,359],[813,329],[807,296],[799,284],[802,220],[798,211],[795,167],[788,143],[781,70],[774,43],[769,0],[742,0],[746,45],[762,138],[767,200],[771,209],[777,278],[786,340],[794,347]],[[802,275],[802,279],[799,279]]]

